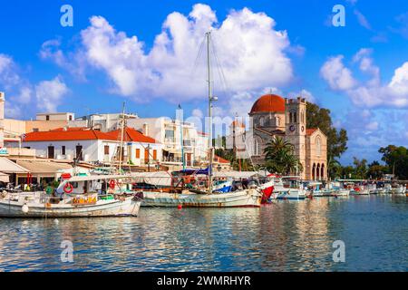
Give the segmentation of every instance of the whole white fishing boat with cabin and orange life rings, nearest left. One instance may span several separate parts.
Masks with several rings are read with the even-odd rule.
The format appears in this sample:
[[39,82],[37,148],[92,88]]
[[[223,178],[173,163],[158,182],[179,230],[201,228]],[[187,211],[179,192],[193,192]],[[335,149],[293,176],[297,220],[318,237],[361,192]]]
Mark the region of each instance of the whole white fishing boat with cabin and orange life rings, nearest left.
[[[53,195],[42,191],[29,194],[4,192],[0,197],[0,217],[136,217],[141,196],[128,195],[120,189],[120,180],[125,178],[116,175],[74,176],[64,179]],[[106,185],[105,191],[103,184]]]

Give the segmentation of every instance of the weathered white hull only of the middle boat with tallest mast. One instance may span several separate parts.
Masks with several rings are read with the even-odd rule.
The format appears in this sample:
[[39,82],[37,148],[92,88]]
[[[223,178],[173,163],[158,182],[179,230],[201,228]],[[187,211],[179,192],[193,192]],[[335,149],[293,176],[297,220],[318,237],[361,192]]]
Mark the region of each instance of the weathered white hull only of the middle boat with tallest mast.
[[219,194],[143,192],[142,207],[235,208],[260,207],[262,194],[256,189]]

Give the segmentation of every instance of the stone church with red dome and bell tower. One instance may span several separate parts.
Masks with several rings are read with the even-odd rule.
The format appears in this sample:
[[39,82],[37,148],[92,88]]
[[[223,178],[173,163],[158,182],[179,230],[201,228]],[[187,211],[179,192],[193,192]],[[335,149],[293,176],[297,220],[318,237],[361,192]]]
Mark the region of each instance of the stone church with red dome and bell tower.
[[327,179],[327,138],[318,128],[306,128],[306,100],[284,99],[266,94],[257,99],[249,111],[249,130],[235,120],[229,127],[227,146],[237,157],[250,158],[255,165],[265,162],[264,150],[276,136],[294,146],[294,153],[302,164],[297,172],[302,179]]

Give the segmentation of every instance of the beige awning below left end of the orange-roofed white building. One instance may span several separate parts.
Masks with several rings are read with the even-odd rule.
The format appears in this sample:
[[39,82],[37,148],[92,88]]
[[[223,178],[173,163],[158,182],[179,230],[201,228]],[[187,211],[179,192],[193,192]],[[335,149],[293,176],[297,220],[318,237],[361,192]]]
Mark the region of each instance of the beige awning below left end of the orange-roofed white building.
[[70,164],[49,160],[17,160],[17,164],[28,169],[34,177],[41,178],[53,178],[61,170],[73,168]]

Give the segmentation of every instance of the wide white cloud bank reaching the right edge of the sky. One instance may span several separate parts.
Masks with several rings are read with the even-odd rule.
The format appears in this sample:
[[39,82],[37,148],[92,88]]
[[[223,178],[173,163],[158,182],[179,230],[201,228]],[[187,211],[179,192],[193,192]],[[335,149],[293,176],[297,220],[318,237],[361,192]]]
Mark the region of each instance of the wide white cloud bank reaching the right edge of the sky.
[[[353,63],[358,64],[359,70],[369,76],[365,82],[357,82],[353,78],[351,70],[342,61],[343,56],[332,57],[324,63],[321,74],[332,90],[345,92],[358,106],[408,107],[408,62],[394,71],[389,83],[382,84],[381,71],[374,64],[372,53],[371,49],[364,48],[355,53],[353,58]],[[342,75],[346,75],[346,81],[341,81]],[[345,83],[350,85],[343,85]]]

